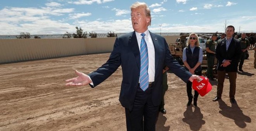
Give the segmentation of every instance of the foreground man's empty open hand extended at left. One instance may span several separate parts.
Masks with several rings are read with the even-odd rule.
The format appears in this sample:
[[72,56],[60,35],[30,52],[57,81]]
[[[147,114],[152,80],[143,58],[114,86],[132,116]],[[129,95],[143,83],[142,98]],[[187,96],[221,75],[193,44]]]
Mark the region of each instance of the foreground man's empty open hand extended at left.
[[85,86],[92,83],[92,80],[89,78],[88,75],[78,71],[75,72],[78,77],[66,80],[66,82],[68,82],[65,84],[66,86]]

